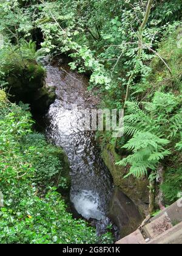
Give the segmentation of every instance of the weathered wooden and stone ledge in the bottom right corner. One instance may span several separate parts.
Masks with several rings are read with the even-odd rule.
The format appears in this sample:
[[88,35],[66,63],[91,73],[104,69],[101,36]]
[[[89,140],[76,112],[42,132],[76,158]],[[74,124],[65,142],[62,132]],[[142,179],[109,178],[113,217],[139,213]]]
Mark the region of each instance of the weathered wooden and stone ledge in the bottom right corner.
[[150,219],[142,229],[116,244],[182,244],[182,199]]

